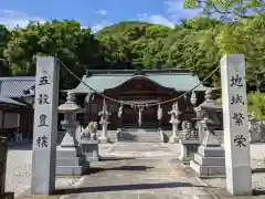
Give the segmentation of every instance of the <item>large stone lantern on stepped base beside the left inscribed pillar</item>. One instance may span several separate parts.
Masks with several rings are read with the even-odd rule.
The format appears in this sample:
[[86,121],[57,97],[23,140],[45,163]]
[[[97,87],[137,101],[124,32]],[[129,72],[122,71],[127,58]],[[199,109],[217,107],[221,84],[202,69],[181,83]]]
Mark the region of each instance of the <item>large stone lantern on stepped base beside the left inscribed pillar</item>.
[[59,106],[59,112],[64,113],[64,121],[61,124],[65,128],[65,136],[56,149],[56,175],[80,176],[89,167],[89,163],[85,161],[86,158],[81,153],[76,137],[78,122],[75,117],[76,113],[82,111],[82,107],[74,102],[73,92],[67,93],[66,100],[64,104]]

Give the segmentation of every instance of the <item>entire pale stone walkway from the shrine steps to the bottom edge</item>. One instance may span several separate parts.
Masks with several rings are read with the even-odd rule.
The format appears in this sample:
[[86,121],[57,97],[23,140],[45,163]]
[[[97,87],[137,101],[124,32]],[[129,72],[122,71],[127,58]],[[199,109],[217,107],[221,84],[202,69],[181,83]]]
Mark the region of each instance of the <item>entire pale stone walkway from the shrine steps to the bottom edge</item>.
[[230,197],[218,186],[202,184],[191,170],[182,167],[178,160],[179,153],[179,146],[170,144],[100,145],[104,159],[93,163],[88,172],[75,179],[74,185],[56,185],[53,196],[24,195],[19,199],[215,198],[211,192],[219,195],[219,198],[242,198]]

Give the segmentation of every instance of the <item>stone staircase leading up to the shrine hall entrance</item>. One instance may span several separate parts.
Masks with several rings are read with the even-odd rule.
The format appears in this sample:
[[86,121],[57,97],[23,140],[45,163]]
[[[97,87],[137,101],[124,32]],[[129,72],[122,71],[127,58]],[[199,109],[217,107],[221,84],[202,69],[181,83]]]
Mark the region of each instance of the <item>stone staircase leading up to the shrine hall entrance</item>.
[[119,142],[163,143],[163,137],[158,129],[126,128]]

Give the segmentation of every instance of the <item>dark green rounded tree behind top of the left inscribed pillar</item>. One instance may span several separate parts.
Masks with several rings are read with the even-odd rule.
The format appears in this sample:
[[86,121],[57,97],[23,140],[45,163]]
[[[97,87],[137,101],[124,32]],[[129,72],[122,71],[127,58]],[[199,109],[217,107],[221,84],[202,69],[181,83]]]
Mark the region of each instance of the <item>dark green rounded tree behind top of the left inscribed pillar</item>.
[[[89,29],[82,29],[76,21],[31,22],[25,29],[14,29],[4,56],[13,75],[34,75],[35,55],[59,57],[74,73],[82,75],[85,67],[100,65],[100,46]],[[77,81],[62,70],[63,85]],[[73,87],[73,85],[71,86]]]

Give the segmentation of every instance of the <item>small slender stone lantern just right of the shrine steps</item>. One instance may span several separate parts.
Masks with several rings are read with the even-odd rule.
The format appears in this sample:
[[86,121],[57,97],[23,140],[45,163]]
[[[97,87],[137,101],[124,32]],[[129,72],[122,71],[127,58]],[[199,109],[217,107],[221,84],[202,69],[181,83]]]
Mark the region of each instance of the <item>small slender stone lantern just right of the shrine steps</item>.
[[179,140],[179,135],[178,135],[179,124],[180,124],[179,115],[181,114],[177,102],[172,105],[172,111],[169,112],[169,114],[171,115],[169,123],[172,124],[172,136],[170,137],[169,142],[177,143]]

